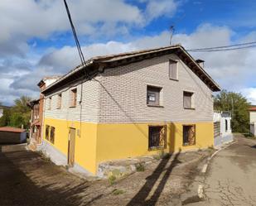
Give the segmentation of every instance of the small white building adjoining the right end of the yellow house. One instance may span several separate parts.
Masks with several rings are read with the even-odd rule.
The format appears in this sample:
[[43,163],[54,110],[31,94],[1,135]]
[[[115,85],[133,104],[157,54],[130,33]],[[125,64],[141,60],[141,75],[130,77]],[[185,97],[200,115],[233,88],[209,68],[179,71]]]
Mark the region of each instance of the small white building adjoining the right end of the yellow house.
[[229,112],[214,113],[215,146],[233,141],[231,130],[231,114]]

